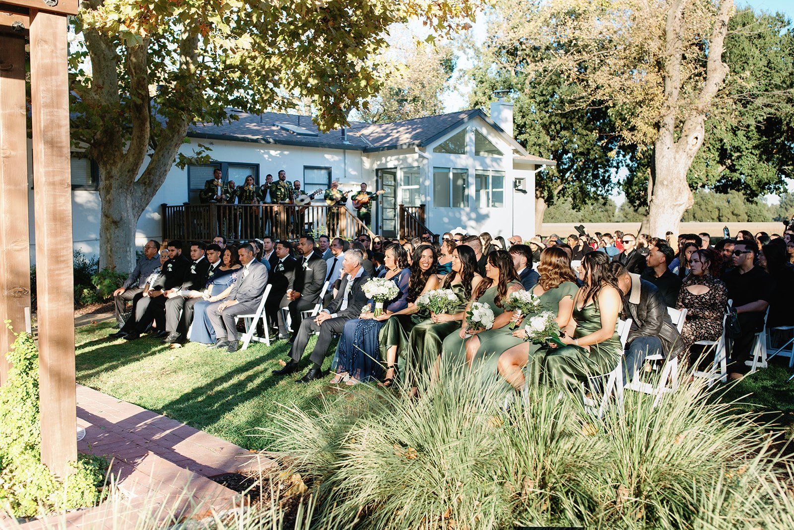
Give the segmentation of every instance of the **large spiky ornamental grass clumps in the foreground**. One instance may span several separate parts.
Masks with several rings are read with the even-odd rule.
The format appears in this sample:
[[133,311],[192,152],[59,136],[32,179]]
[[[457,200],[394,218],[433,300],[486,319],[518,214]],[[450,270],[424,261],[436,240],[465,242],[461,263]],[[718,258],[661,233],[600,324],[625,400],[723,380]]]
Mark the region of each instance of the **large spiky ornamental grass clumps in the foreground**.
[[794,528],[776,435],[700,382],[655,408],[626,391],[623,411],[599,420],[557,389],[488,381],[442,371],[418,397],[326,398],[267,434],[310,478],[318,528]]

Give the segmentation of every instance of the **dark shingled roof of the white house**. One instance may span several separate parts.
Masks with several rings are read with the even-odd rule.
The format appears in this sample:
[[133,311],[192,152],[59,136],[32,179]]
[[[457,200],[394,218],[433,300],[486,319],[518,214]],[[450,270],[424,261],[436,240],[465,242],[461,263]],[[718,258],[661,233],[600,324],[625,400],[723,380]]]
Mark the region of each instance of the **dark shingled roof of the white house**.
[[[239,119],[215,126],[204,123],[191,126],[187,135],[194,138],[213,140],[252,141],[265,144],[303,145],[306,147],[326,147],[329,149],[356,149],[360,151],[380,151],[410,147],[423,147],[443,136],[448,130],[461,122],[480,117],[488,124],[503,132],[480,109],[461,110],[449,114],[438,114],[426,118],[414,118],[391,123],[352,122],[346,129],[346,141],[342,140],[341,130],[328,133],[319,132],[310,116],[266,112],[255,115],[230,110],[229,114]],[[317,136],[303,136],[284,130],[276,123],[289,123],[303,127]]]

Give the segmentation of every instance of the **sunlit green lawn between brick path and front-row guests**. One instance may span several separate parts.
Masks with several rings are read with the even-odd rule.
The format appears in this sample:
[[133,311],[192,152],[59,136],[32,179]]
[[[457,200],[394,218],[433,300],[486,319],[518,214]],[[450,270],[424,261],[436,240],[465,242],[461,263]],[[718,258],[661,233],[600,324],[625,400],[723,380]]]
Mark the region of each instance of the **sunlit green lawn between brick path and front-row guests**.
[[[307,408],[330,388],[330,377],[309,385],[296,383],[310,365],[309,342],[298,374],[277,377],[278,359],[287,359],[289,345],[271,347],[253,342],[248,350],[229,354],[188,342],[170,349],[160,339],[144,335],[137,341],[108,340],[112,323],[76,330],[77,381],[121,400],[217,435],[249,449],[268,442],[254,427],[263,427],[279,404]],[[330,366],[333,352],[323,369]],[[360,385],[364,387],[366,385]],[[363,389],[362,389],[363,390]]]

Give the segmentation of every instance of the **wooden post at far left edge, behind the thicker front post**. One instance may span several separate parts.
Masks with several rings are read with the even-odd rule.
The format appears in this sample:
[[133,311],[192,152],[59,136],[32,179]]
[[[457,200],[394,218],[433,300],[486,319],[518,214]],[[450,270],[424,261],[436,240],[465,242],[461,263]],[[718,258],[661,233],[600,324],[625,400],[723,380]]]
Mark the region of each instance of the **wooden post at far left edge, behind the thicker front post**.
[[[25,331],[30,307],[28,134],[25,123],[25,38],[0,34],[0,315]],[[0,329],[0,385],[14,336]]]

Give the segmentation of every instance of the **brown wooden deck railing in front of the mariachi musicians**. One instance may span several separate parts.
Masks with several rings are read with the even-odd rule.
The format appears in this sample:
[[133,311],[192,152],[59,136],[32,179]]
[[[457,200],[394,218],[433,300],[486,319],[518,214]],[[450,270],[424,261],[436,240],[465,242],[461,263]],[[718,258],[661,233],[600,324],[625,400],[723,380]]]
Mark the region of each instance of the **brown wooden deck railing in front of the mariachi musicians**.
[[355,238],[369,230],[345,207],[314,204],[162,204],[163,238],[211,241],[221,234],[230,240],[249,241],[270,234],[297,239],[303,234],[329,234]]

